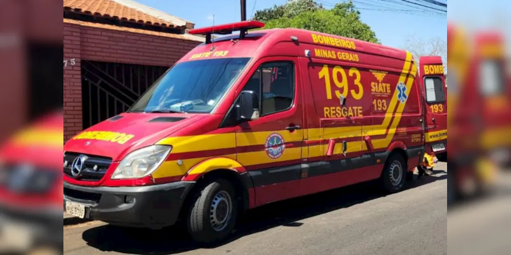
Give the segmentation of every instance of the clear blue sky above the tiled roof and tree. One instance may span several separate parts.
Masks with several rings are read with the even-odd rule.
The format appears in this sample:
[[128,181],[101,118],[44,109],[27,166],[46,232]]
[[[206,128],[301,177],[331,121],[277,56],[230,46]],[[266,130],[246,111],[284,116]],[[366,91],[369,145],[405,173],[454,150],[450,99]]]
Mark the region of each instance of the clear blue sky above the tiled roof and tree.
[[[215,24],[230,23],[240,20],[239,0],[136,1],[195,23],[195,28],[212,25],[213,15]],[[447,4],[447,0],[436,1]],[[247,16],[250,18],[256,10],[270,8],[273,5],[281,5],[285,2],[286,0],[247,0]],[[330,8],[341,1],[318,0],[317,2],[323,4],[326,8]],[[418,13],[420,15],[417,15],[403,12],[381,11],[382,7],[377,6],[385,5],[388,0],[353,0],[353,2],[359,8],[379,9],[377,11],[361,10],[361,16],[362,21],[372,28],[384,45],[403,48],[406,45],[407,39],[412,35],[414,35],[415,38],[424,40],[440,38],[447,41],[446,16],[439,17],[425,13]],[[399,6],[396,7],[394,5],[393,8],[399,8]]]

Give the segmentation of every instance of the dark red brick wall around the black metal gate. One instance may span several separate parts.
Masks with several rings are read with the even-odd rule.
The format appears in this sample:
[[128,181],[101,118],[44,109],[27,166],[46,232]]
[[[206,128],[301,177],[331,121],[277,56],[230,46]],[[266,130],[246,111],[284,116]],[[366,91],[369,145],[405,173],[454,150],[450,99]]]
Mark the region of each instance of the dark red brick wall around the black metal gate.
[[64,143],[82,130],[82,60],[171,66],[200,43],[69,23],[63,34]]

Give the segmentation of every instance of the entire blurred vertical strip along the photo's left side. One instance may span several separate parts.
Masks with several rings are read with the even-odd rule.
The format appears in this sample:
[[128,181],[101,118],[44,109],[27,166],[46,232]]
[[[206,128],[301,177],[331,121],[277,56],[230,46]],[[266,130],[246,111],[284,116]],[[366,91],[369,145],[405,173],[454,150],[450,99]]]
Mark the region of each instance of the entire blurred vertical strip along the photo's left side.
[[62,23],[56,4],[0,1],[1,253],[62,247]]

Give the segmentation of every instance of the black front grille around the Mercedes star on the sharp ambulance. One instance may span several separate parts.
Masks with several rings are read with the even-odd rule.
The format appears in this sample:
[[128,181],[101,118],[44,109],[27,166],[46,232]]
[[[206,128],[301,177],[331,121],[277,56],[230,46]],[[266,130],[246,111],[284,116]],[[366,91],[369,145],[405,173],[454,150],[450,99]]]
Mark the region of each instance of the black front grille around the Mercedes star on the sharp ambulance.
[[[83,155],[85,160],[81,172],[74,176],[71,167],[76,158]],[[112,159],[94,155],[78,154],[75,152],[65,152],[64,155],[64,174],[80,181],[97,182],[106,174],[106,170],[112,164]],[[95,169],[96,167],[96,169]]]

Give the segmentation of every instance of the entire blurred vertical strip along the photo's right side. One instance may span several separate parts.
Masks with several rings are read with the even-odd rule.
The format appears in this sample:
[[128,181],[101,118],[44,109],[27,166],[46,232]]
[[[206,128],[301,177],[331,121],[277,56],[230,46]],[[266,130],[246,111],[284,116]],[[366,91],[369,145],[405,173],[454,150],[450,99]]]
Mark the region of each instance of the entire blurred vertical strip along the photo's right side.
[[511,252],[511,2],[449,1],[448,253]]

